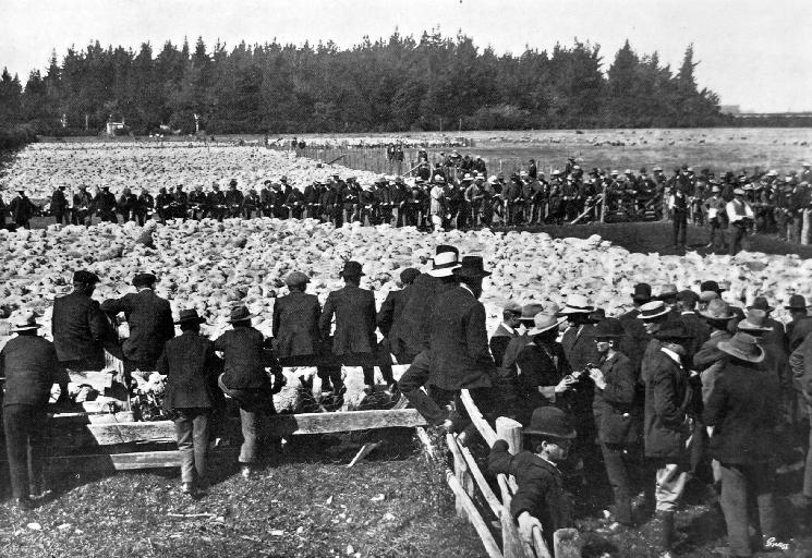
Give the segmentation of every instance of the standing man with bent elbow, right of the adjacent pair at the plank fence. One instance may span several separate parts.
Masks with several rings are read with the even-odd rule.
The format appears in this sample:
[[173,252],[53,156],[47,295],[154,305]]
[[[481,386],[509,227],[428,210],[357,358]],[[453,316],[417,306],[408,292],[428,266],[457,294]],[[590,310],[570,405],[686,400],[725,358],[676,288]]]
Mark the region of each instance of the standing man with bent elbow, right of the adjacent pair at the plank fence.
[[[223,360],[218,385],[240,405],[243,442],[239,461],[246,480],[258,460],[264,417],[276,414],[274,393],[286,384],[282,367],[269,343],[251,325],[254,317],[245,305],[232,308],[229,316],[232,329],[215,340],[215,350],[222,353]],[[272,384],[266,368],[274,375]]]

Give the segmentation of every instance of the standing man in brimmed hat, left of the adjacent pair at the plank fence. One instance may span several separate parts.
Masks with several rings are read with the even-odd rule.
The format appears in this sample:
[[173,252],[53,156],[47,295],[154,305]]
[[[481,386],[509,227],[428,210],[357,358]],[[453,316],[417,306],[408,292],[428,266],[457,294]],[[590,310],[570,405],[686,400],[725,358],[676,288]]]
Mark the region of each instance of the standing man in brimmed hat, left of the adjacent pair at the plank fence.
[[196,310],[182,310],[174,323],[181,335],[167,341],[156,366],[167,376],[163,409],[174,422],[184,494],[206,487],[209,417],[223,403],[217,386],[222,361],[215,344],[201,335],[204,323]]

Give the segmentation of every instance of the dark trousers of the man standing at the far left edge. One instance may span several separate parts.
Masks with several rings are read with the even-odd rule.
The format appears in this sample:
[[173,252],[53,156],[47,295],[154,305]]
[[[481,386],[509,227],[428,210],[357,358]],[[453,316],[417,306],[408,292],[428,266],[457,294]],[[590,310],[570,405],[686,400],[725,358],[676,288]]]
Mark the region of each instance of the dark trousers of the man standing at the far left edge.
[[14,498],[27,498],[32,492],[38,493],[44,488],[47,423],[44,405],[3,408],[5,451]]

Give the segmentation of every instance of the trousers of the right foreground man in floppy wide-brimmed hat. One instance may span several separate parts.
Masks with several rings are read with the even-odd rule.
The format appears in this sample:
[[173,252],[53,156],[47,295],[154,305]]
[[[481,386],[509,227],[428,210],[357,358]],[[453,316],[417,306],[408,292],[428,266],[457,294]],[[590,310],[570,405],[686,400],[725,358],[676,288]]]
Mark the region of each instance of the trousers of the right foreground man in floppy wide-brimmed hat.
[[736,556],[751,556],[748,509],[755,499],[761,534],[776,534],[773,484],[775,474],[768,463],[739,465],[722,463],[722,511],[727,523],[727,538]]

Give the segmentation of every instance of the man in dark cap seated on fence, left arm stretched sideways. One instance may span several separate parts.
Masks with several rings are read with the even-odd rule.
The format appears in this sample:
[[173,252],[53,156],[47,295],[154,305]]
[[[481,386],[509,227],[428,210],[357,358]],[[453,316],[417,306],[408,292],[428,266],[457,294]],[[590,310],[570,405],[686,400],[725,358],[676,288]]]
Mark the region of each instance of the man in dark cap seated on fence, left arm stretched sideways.
[[153,274],[136,274],[133,279],[135,293],[101,303],[108,314],[124,313],[130,337],[124,340],[125,371],[154,371],[155,363],[163,350],[163,343],[174,337],[172,310],[169,301],[153,291],[157,278]]

